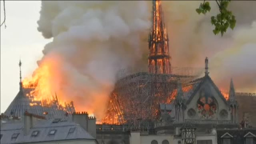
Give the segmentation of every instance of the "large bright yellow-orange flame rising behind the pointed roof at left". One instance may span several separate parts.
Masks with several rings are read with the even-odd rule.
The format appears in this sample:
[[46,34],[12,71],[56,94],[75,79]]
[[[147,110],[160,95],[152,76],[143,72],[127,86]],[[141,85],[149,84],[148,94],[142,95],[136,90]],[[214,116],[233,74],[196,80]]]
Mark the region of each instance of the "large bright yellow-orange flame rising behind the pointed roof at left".
[[[54,89],[53,77],[58,75],[56,72],[58,65],[59,60],[57,58],[54,59],[51,57],[51,59],[44,59],[34,71],[33,76],[23,79],[23,88],[34,89],[30,94],[26,94],[27,97],[32,99],[30,106],[37,106],[38,103],[36,103],[36,101],[41,101],[42,106],[51,106],[52,103],[56,101],[57,95],[55,95],[56,90]],[[62,107],[66,107],[66,101],[63,100],[61,96],[62,95],[58,95],[60,98],[58,104]]]

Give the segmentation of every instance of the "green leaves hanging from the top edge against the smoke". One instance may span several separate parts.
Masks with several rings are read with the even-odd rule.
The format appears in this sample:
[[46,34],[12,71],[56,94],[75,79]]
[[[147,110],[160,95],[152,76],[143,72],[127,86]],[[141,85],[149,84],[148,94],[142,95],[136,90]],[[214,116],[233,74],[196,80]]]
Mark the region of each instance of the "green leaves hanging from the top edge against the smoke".
[[[234,29],[236,26],[236,18],[235,15],[233,15],[232,12],[227,9],[230,1],[222,0],[216,2],[219,6],[220,13],[211,17],[211,23],[215,26],[215,29],[212,31],[215,35],[221,33],[221,36],[223,36],[228,28],[231,28],[232,30]],[[206,12],[210,12],[210,10],[210,3],[204,1],[204,3],[201,3],[199,8],[196,9],[196,12],[198,14],[206,14]]]

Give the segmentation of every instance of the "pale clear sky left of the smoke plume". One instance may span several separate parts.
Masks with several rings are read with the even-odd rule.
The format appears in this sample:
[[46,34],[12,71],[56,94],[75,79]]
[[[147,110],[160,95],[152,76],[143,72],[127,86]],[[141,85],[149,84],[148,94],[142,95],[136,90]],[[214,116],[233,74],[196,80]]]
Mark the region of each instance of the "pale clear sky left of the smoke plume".
[[[6,28],[1,27],[1,113],[19,91],[19,60],[22,77],[29,76],[42,58],[42,50],[51,39],[37,31],[41,1],[5,1]],[[3,21],[1,1],[1,22]]]

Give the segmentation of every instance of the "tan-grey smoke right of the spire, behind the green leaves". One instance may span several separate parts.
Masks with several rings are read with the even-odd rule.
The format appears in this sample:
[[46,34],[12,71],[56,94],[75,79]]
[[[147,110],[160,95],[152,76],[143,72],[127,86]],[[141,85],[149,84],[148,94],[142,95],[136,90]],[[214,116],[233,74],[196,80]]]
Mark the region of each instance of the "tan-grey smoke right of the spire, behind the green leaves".
[[210,17],[219,13],[217,4],[210,1],[211,12],[198,15],[195,10],[202,2],[163,1],[172,65],[203,67],[207,56],[210,76],[221,89],[228,89],[233,77],[237,91],[256,92],[256,2],[231,1],[237,25],[223,37],[212,33]]

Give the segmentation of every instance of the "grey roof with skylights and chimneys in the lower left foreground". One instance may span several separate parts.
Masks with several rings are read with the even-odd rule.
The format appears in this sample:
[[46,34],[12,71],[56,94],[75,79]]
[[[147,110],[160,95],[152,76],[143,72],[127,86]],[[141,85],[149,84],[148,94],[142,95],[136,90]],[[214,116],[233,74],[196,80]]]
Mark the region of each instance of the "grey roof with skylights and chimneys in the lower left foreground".
[[46,119],[25,113],[22,119],[1,119],[1,143],[98,143],[95,118],[75,113],[72,120]]

